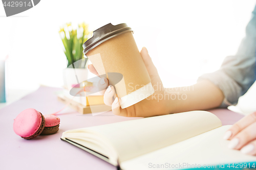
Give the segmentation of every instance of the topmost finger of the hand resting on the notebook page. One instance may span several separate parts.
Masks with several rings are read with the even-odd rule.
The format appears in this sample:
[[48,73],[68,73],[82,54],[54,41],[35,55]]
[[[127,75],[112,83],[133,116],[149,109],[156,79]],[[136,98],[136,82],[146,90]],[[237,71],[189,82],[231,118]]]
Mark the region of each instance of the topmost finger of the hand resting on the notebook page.
[[224,139],[232,139],[240,131],[256,122],[256,112],[249,114],[234,124],[223,136]]

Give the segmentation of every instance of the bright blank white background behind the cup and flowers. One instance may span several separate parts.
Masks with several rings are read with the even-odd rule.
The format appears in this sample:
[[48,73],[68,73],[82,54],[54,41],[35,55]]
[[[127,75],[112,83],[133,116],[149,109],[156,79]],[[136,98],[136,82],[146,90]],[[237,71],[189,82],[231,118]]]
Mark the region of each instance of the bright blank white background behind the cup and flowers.
[[9,55],[7,89],[63,85],[67,61],[58,31],[70,21],[86,21],[92,31],[126,22],[139,49],[147,47],[165,87],[194,84],[236,54],[255,3],[42,0],[12,17],[5,17],[0,5],[0,59]]

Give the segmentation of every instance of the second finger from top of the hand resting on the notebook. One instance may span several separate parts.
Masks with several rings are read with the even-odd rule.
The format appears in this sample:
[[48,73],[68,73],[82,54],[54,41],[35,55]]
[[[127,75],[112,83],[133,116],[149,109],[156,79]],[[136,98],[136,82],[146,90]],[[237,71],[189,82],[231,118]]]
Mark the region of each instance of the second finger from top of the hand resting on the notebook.
[[229,149],[236,149],[240,150],[243,148],[247,143],[256,139],[256,122],[249,125],[242,131],[240,131],[236,136],[230,140],[228,143]]

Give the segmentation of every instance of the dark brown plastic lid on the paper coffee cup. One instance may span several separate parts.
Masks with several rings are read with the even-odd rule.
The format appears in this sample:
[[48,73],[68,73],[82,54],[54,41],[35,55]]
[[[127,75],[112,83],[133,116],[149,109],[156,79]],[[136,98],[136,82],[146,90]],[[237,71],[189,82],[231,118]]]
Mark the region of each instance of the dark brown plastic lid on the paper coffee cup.
[[128,27],[126,23],[120,23],[116,26],[113,26],[112,23],[108,23],[107,25],[100,27],[93,32],[92,38],[83,43],[83,54],[86,55],[90,50],[102,42],[126,32],[133,32],[131,27]]

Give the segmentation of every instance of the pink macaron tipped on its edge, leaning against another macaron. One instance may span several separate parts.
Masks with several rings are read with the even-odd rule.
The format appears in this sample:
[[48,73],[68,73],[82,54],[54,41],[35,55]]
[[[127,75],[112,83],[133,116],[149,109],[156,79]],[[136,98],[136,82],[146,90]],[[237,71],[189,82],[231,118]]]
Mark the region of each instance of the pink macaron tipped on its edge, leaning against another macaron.
[[35,109],[26,109],[14,119],[14,132],[24,139],[33,139],[45,128],[45,117]]

